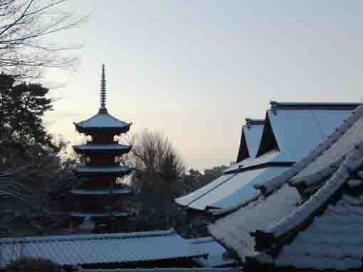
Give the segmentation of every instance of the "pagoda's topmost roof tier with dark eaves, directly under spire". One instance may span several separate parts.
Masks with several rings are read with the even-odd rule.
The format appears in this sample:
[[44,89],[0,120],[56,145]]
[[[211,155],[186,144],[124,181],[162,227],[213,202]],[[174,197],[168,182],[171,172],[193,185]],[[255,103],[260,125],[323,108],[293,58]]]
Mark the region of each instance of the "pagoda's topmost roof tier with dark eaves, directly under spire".
[[120,134],[129,131],[132,123],[121,121],[107,112],[98,112],[98,114],[90,117],[90,119],[78,123],[73,122],[73,124],[79,133],[112,131]]

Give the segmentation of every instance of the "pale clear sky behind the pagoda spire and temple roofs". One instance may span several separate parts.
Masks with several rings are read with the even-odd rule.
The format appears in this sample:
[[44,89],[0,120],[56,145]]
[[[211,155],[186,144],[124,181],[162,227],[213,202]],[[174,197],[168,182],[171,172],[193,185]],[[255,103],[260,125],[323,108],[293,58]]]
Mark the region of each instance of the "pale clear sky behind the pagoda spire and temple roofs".
[[91,13],[59,43],[84,43],[75,72],[48,70],[46,124],[77,141],[73,121],[98,111],[102,63],[107,109],[131,132],[164,131],[188,168],[237,156],[246,117],[270,100],[362,102],[363,1],[78,0]]

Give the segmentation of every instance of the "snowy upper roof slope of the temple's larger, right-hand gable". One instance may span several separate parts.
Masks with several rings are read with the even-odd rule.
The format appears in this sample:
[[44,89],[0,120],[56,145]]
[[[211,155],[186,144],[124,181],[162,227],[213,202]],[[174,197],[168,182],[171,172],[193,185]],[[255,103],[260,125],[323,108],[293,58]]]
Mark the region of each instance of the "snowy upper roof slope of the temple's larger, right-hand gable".
[[[277,102],[276,102],[277,103]],[[285,106],[288,104],[288,106]],[[307,107],[310,105],[311,107]],[[303,158],[318,143],[325,141],[335,128],[342,124],[352,114],[352,109],[358,104],[330,104],[330,103],[278,103],[275,109],[268,109],[263,134],[267,134],[270,125],[271,133],[266,138],[275,137],[278,146],[271,146],[255,160],[246,158],[231,165],[224,173],[241,168],[248,168],[262,163],[295,163]],[[301,106],[304,107],[301,107]],[[332,106],[332,109],[327,106]],[[346,105],[346,106],[344,106]],[[324,106],[324,107],[322,107]],[[334,107],[337,107],[336,109]],[[267,126],[266,126],[267,124]],[[262,136],[262,135],[261,135]],[[253,137],[251,137],[253,138]],[[246,137],[248,139],[248,137]],[[260,138],[261,139],[261,138]],[[263,141],[263,138],[261,139]],[[265,143],[258,142],[258,151]],[[296,143],[299,144],[296,144]],[[254,143],[253,143],[254,144]],[[252,144],[252,145],[253,145]],[[274,153],[272,153],[272,151]],[[269,156],[266,155],[269,154]],[[267,159],[267,160],[266,160]]]

